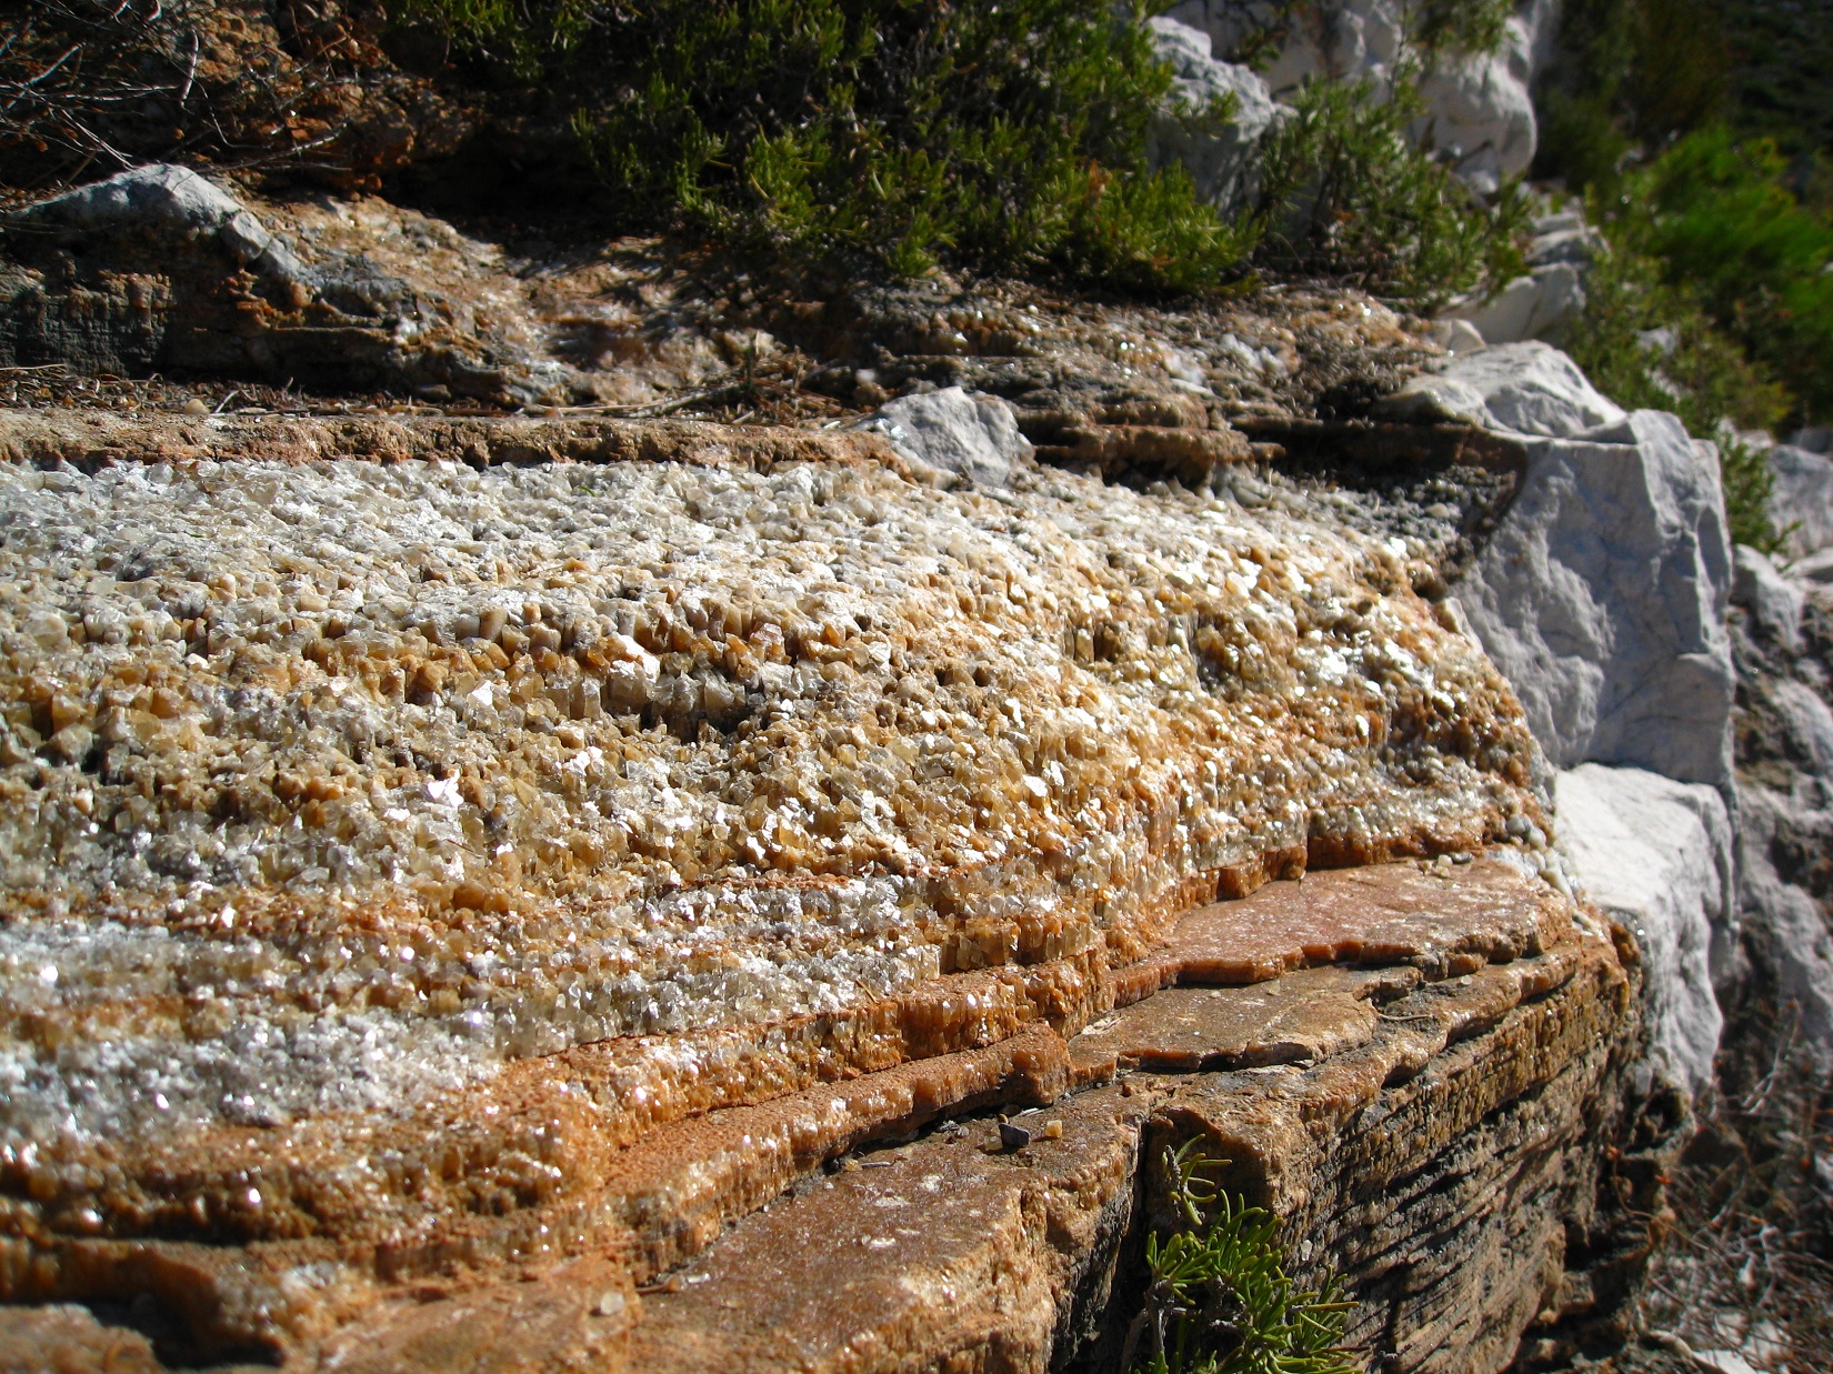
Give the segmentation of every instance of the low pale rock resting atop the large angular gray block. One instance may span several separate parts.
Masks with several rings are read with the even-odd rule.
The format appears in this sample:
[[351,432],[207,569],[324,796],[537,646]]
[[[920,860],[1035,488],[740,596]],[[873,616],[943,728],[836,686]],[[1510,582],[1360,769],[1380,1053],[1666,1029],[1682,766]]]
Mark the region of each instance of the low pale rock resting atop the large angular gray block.
[[1483,429],[1565,438],[1617,425],[1624,409],[1598,392],[1558,348],[1512,343],[1421,374],[1382,409],[1399,418],[1461,420]]

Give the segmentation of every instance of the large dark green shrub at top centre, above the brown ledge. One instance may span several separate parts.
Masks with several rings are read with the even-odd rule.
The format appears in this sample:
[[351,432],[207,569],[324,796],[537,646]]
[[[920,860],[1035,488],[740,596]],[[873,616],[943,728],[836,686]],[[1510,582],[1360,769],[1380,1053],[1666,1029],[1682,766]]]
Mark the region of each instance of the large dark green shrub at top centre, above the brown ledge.
[[396,2],[566,115],[620,227],[1160,289],[1252,247],[1147,170],[1171,73],[1109,0]]

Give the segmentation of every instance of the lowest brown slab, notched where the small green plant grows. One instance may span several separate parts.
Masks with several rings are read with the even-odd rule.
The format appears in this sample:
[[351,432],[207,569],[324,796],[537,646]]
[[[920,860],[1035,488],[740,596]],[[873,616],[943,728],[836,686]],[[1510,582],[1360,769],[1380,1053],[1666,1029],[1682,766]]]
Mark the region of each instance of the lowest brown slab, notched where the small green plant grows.
[[[1329,1035],[1333,993],[1356,982],[1377,978],[1323,969],[1256,989],[1166,991],[1116,1022],[1133,1022],[1135,1042],[1158,1031],[1162,1044],[1166,1030],[1173,1042],[1224,1042],[1254,1020],[1252,993],[1263,1037],[1307,1015],[1312,1035]],[[1267,1004],[1272,987],[1290,1008]],[[1393,1352],[1386,1369],[1499,1370],[1564,1273],[1564,1226],[1593,1213],[1593,1163],[1567,1150],[1611,1105],[1628,982],[1609,943],[1569,940],[1369,1013],[1356,1044],[1307,1068],[1078,1092],[1017,1118],[1032,1130],[1019,1150],[1003,1150],[982,1119],[862,1156],[645,1295],[632,1363],[1043,1370],[1078,1352],[1100,1363],[1136,1286],[1136,1255],[1120,1242],[1122,1174],[1157,1180],[1158,1150],[1199,1134],[1232,1160],[1232,1187],[1287,1216],[1307,1268],[1349,1273],[1356,1336]],[[1437,1048],[1408,1074],[1422,1024]],[[1525,1196],[1503,1205],[1510,1189]]]

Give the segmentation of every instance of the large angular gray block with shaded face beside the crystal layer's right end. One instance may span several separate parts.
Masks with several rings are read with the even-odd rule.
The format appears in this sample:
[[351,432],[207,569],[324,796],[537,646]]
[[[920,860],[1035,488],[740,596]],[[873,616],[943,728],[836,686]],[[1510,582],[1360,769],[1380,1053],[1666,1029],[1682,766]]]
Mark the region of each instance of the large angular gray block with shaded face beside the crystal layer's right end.
[[1547,757],[1729,784],[1732,564],[1716,460],[1661,410],[1527,454],[1457,595]]

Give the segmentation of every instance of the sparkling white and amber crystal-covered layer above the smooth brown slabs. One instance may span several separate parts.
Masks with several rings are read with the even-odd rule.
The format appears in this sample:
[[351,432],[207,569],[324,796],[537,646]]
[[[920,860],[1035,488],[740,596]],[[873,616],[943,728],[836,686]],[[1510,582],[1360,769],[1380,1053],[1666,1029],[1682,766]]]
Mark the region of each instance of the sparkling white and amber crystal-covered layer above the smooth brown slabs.
[[1419,550],[862,451],[0,467],[4,1286],[565,1249],[587,1202],[489,1237],[671,1119],[1072,1033],[1217,887],[1545,824]]

